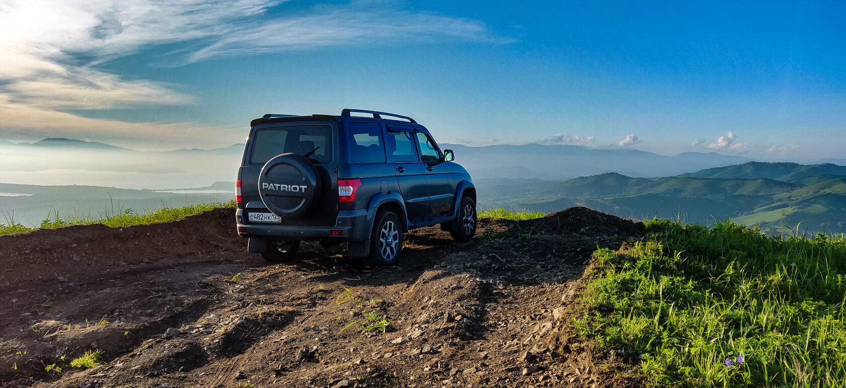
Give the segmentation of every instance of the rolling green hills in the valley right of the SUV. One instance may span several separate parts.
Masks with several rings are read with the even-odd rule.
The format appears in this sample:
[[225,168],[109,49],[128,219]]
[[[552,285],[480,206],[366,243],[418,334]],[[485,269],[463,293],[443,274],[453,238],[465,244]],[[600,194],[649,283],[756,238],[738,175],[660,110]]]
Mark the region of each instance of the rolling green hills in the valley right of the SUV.
[[[753,162],[662,178],[607,173],[508,188],[498,207],[549,213],[585,206],[632,219],[734,219],[773,233],[793,233],[797,224],[803,232],[846,232],[846,167],[834,164]],[[482,207],[487,201],[480,194]]]

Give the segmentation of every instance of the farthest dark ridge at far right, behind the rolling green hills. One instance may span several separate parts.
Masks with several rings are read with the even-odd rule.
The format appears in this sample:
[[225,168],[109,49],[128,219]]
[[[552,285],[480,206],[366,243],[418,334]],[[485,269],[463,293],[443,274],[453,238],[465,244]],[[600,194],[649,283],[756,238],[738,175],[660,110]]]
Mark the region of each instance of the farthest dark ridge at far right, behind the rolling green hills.
[[836,164],[795,164],[749,162],[736,166],[702,169],[695,173],[682,174],[691,178],[710,179],[772,179],[785,182],[804,180],[810,177],[846,176],[846,166]]

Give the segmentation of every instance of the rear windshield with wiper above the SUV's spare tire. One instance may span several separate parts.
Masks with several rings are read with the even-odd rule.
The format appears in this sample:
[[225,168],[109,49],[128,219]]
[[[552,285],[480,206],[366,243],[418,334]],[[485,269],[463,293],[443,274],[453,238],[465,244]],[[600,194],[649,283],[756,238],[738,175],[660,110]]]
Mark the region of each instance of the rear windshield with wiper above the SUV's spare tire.
[[271,158],[294,152],[309,155],[319,163],[332,162],[332,126],[291,125],[256,130],[253,134],[250,164],[266,164]]

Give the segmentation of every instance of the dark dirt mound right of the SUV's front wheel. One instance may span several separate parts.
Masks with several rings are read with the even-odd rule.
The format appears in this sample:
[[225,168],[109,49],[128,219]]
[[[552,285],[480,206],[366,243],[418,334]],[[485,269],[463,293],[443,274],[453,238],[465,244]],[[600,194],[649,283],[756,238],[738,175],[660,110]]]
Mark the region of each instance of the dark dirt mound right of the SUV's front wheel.
[[565,208],[540,219],[519,221],[517,226],[522,233],[547,235],[579,233],[590,236],[631,237],[640,236],[644,232],[641,222],[635,223],[631,219],[621,219],[582,207]]

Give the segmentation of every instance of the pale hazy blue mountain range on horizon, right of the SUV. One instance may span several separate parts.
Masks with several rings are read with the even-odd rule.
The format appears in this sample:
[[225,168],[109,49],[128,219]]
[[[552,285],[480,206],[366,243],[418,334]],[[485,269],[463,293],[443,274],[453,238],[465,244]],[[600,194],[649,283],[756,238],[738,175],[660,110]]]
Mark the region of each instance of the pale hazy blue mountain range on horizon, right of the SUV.
[[474,178],[566,180],[614,172],[635,177],[678,175],[689,171],[749,162],[749,158],[686,152],[673,157],[632,149],[581,146],[497,145],[467,147],[442,144]]

